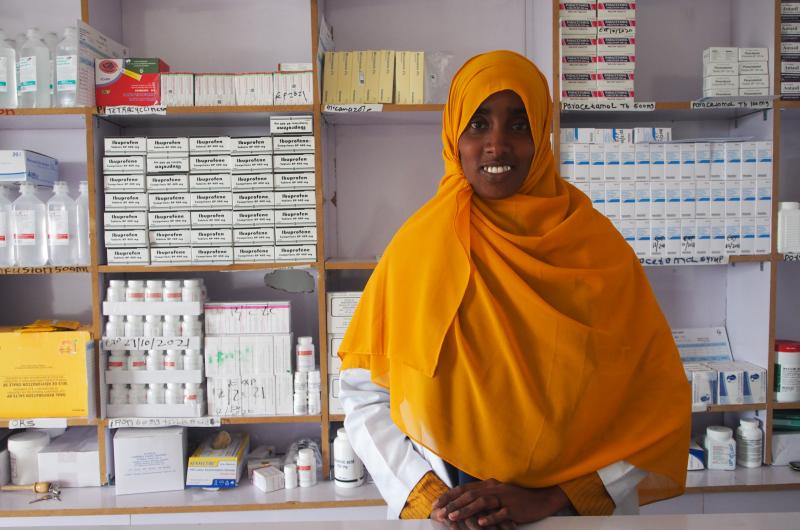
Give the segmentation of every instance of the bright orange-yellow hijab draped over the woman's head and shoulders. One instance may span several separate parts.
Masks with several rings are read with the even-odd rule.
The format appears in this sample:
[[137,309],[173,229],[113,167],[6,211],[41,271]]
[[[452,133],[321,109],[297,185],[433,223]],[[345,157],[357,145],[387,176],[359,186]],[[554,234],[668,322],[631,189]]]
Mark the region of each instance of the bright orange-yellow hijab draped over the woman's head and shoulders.
[[[513,90],[536,148],[518,194],[474,195],[458,138]],[[628,244],[556,171],[547,81],[497,51],[455,75],[445,175],[400,228],[339,349],[390,389],[395,424],[480,479],[560,484],[625,460],[640,499],[680,494],[690,392],[669,325]]]

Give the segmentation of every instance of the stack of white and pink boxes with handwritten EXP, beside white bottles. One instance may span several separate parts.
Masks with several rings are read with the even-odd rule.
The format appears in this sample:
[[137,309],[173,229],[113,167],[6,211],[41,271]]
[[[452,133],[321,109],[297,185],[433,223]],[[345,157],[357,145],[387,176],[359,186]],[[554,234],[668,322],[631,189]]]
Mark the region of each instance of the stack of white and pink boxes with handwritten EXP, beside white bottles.
[[290,416],[290,302],[205,305],[208,411],[214,416]]

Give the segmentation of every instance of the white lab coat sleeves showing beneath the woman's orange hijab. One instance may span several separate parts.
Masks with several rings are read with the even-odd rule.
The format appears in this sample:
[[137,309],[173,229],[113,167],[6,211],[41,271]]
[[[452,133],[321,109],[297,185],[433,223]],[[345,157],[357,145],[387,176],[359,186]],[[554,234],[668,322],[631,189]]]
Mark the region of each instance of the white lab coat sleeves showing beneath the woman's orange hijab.
[[[394,424],[389,391],[372,382],[369,370],[343,370],[339,383],[347,437],[386,500],[389,519],[400,516],[411,490],[428,471],[453,486],[444,461]],[[597,473],[614,501],[614,515],[639,513],[636,486],[644,478],[644,471],[619,461]]]

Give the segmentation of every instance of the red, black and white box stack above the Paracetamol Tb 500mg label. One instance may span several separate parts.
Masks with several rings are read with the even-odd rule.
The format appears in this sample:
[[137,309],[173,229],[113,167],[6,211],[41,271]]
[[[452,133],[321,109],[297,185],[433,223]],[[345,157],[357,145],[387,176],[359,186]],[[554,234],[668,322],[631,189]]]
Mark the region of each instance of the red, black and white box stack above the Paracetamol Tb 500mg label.
[[636,3],[567,1],[559,15],[561,98],[633,102]]

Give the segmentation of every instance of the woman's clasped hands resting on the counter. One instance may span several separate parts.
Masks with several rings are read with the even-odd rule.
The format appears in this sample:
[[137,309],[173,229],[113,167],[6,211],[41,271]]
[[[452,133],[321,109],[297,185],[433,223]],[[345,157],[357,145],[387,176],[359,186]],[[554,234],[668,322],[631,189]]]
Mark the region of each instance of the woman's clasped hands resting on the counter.
[[570,505],[558,486],[522,488],[494,479],[452,488],[433,503],[431,519],[458,530],[459,522],[469,530],[513,530]]

